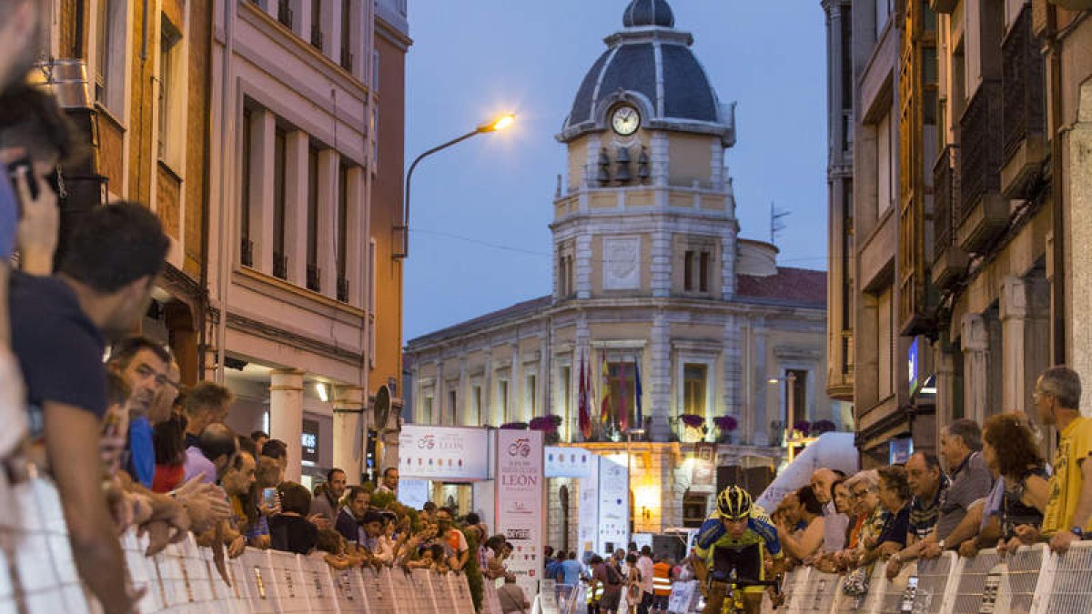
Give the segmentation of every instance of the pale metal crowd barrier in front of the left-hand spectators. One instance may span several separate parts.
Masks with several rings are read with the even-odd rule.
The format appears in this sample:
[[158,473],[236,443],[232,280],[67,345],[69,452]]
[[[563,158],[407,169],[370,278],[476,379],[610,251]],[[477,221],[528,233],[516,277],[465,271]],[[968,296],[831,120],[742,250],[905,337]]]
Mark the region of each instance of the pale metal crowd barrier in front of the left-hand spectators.
[[[130,580],[145,590],[140,611],[173,614],[474,614],[466,576],[424,569],[339,571],[319,555],[247,548],[225,558],[225,582],[212,550],[192,535],[144,556],[147,539],[121,536]],[[486,582],[486,603],[500,614]],[[46,480],[3,482],[0,472],[0,614],[99,614],[81,585],[60,498]]]

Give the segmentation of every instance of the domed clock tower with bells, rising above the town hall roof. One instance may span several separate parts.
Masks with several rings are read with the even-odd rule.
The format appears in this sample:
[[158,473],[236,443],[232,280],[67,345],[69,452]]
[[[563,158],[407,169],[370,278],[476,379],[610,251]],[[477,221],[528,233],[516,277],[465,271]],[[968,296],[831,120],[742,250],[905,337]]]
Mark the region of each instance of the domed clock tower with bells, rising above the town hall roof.
[[665,0],[632,0],[577,91],[558,141],[555,303],[727,300],[736,234],[722,105]]

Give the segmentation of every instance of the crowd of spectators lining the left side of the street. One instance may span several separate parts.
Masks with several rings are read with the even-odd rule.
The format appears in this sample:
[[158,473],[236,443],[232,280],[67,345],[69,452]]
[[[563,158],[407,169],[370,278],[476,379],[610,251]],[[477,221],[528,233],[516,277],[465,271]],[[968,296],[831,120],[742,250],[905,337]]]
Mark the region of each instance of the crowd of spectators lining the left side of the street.
[[87,153],[25,82],[43,5],[0,2],[0,500],[39,475],[56,484],[80,578],[111,614],[141,598],[119,543],[131,528],[150,556],[192,533],[225,580],[224,560],[249,546],[466,572],[480,602],[483,580],[511,576],[512,548],[475,515],[399,504],[393,468],[353,486],[334,469],[314,493],[286,481],[284,441],[233,432],[227,388],[182,386],[169,350],[131,334],[170,247],[149,208],[88,209],[61,240],[60,168]]

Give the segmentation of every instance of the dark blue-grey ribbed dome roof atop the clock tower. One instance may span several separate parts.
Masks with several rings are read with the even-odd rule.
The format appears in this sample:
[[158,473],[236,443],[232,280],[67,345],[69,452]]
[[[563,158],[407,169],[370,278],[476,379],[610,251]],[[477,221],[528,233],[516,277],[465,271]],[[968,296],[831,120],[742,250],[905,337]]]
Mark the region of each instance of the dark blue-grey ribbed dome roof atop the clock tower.
[[645,127],[720,134],[726,146],[734,144],[734,119],[722,113],[690,50],[693,37],[674,29],[667,1],[632,0],[622,23],[584,75],[558,139],[605,130],[609,108],[626,101],[640,109]]

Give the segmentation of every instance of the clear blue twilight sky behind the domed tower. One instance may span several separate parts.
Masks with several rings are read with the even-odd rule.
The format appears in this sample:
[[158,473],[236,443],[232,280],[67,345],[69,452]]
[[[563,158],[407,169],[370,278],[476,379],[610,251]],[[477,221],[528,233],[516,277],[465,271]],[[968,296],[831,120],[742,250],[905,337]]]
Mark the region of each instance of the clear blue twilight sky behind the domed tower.
[[[406,165],[503,110],[506,132],[414,172],[405,265],[411,340],[551,287],[551,219],[566,152],[554,135],[584,73],[621,28],[627,0],[411,0]],[[670,0],[675,26],[722,103],[737,101],[726,153],[745,238],[770,239],[770,202],[791,211],[779,264],[827,268],[826,49],[819,0]],[[380,118],[382,120],[382,118]]]

